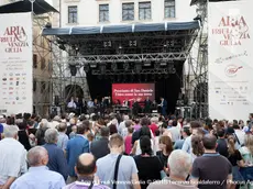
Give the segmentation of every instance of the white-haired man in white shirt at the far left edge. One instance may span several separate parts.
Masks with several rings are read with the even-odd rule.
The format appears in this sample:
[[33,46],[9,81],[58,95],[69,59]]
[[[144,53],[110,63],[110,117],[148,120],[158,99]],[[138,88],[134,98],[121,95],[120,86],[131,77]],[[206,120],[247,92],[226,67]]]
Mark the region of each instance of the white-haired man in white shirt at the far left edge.
[[19,127],[4,126],[4,138],[0,141],[0,188],[8,189],[12,182],[28,171],[26,151],[16,141]]

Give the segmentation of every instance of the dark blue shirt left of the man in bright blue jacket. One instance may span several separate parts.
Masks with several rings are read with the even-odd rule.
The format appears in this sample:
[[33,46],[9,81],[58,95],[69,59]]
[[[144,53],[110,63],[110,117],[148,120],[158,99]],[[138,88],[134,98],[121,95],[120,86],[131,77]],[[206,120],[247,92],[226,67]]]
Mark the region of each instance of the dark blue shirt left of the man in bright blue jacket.
[[66,180],[68,176],[68,168],[63,149],[57,147],[56,144],[45,144],[43,147],[45,147],[48,153],[50,160],[47,163],[47,167],[50,170],[57,171]]

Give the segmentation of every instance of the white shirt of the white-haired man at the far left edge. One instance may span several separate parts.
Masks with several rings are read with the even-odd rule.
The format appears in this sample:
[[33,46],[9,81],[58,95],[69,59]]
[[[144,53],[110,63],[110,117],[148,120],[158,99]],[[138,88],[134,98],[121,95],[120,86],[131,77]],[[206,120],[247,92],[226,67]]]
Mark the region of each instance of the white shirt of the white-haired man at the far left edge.
[[19,177],[21,173],[26,171],[24,146],[14,138],[0,141],[0,184],[6,184],[9,177]]

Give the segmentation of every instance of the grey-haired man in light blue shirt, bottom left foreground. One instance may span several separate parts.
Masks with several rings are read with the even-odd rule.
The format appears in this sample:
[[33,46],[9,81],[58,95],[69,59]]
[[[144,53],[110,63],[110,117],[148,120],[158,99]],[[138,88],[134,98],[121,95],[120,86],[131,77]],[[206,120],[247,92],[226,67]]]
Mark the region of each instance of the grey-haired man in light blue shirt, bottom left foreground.
[[29,171],[18,178],[10,189],[62,189],[65,180],[58,173],[46,167],[48,155],[44,147],[35,146],[28,153]]

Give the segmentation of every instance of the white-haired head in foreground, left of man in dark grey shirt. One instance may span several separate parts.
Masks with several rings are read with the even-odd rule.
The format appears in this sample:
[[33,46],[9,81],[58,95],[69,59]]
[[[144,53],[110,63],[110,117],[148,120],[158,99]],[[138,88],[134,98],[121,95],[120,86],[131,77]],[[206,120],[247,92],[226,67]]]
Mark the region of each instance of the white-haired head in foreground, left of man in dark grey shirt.
[[173,151],[168,157],[169,175],[187,178],[191,169],[191,163],[190,155],[185,151]]

